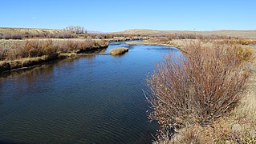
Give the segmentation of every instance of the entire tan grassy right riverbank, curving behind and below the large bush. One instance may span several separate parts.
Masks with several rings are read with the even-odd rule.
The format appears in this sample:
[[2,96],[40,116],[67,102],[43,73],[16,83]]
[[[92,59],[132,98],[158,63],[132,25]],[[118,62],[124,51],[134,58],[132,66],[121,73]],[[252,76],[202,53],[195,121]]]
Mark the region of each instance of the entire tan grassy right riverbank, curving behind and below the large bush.
[[[191,43],[198,43],[200,45],[193,46]],[[249,87],[247,92],[242,95],[242,99],[238,102],[238,107],[230,114],[217,118],[213,123],[206,126],[195,124],[192,126],[185,126],[177,133],[170,137],[169,133],[162,131],[159,135],[157,142],[177,142],[177,143],[190,143],[190,142],[256,142],[256,60],[255,60],[255,40],[251,39],[173,39],[167,38],[152,39],[144,42],[127,42],[130,45],[161,45],[161,46],[174,46],[182,52],[189,54],[189,50],[195,48],[209,47],[223,47],[223,49],[231,50],[227,54],[232,54],[237,57],[241,62],[250,63],[250,78]],[[202,48],[201,47],[201,48]],[[162,120],[160,119],[161,123]],[[156,143],[157,143],[156,142]]]

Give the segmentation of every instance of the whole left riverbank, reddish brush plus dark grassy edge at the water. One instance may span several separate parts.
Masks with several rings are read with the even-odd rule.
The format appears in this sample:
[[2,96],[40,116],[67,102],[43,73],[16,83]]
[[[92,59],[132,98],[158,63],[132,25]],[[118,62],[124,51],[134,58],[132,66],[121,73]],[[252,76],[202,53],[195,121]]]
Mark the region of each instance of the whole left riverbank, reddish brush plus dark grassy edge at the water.
[[108,42],[91,39],[1,40],[0,72],[74,58],[83,53],[99,53],[107,47]]

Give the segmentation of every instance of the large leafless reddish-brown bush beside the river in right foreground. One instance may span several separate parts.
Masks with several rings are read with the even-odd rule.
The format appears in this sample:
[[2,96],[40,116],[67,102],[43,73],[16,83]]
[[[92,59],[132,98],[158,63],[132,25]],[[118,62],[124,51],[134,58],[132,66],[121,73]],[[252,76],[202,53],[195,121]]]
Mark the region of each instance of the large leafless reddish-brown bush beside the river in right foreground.
[[190,43],[186,58],[171,54],[148,76],[151,90],[149,114],[162,128],[181,128],[213,122],[238,106],[250,77],[246,63],[242,63],[232,48],[211,48]]

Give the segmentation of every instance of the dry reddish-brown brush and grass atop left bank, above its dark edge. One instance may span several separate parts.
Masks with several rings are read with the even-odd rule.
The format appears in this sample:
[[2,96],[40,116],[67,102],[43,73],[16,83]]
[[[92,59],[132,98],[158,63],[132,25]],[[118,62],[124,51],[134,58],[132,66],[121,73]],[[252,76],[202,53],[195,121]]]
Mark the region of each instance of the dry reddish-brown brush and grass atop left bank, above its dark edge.
[[1,60],[15,60],[18,58],[35,58],[43,55],[61,53],[82,53],[108,46],[108,42],[91,39],[29,39],[29,40],[1,40]]

